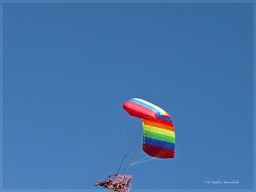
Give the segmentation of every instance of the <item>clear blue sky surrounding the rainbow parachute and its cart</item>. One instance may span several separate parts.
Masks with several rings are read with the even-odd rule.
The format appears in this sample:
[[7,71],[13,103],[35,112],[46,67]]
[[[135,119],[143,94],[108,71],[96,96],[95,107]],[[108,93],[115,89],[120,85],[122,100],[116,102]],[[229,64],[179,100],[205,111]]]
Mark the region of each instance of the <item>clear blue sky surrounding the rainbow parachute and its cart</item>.
[[253,4],[3,8],[5,189],[101,190],[131,98],[176,134],[174,159],[126,170],[132,189],[253,188]]

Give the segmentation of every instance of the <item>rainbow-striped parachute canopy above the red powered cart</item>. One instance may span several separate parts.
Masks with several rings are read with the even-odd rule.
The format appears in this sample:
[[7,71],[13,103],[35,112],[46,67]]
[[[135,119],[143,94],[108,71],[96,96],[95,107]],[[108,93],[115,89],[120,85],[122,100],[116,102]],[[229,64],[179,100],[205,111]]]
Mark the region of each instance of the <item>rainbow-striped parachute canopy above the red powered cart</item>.
[[142,149],[145,153],[152,157],[174,158],[175,131],[172,119],[166,111],[137,98],[126,101],[123,108],[131,116],[142,120]]

